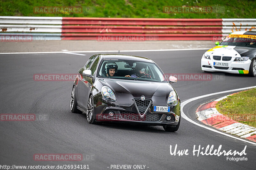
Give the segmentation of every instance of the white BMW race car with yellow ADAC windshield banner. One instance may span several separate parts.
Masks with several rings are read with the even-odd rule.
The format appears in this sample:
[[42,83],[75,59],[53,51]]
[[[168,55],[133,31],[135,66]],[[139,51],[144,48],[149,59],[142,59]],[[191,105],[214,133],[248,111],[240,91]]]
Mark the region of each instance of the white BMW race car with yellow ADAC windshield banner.
[[215,44],[202,56],[203,71],[256,76],[256,31],[236,31]]

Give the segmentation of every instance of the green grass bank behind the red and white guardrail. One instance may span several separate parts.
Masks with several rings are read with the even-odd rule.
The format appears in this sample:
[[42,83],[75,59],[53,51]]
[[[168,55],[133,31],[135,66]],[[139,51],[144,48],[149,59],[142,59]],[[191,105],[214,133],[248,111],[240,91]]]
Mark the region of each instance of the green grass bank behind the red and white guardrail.
[[[122,18],[256,18],[253,0],[1,0],[1,16],[122,17]],[[165,13],[164,6],[224,6],[223,13]],[[35,14],[35,6],[84,6],[93,12]]]

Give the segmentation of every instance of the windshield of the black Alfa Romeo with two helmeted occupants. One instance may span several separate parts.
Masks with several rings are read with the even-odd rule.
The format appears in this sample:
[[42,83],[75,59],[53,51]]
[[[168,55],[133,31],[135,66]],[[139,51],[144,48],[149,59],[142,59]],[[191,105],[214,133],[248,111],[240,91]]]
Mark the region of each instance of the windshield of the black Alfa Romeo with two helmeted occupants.
[[165,75],[155,63],[136,60],[103,60],[98,77],[126,80],[166,81]]

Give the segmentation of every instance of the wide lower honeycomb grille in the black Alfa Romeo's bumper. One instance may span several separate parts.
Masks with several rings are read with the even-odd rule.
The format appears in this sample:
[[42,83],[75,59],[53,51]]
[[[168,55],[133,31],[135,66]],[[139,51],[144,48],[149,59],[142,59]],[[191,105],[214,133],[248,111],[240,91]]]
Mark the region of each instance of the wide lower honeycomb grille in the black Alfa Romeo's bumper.
[[120,115],[126,120],[136,120],[136,121],[158,121],[160,120],[162,114],[158,113],[147,113],[143,118],[140,117],[138,113],[120,111]]

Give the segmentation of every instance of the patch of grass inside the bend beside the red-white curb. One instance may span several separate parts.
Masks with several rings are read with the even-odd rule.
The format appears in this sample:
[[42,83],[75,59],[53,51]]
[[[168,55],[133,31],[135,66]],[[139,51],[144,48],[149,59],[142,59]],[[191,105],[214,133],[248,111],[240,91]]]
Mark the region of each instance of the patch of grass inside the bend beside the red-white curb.
[[216,104],[216,109],[233,120],[256,128],[256,89],[228,96]]

